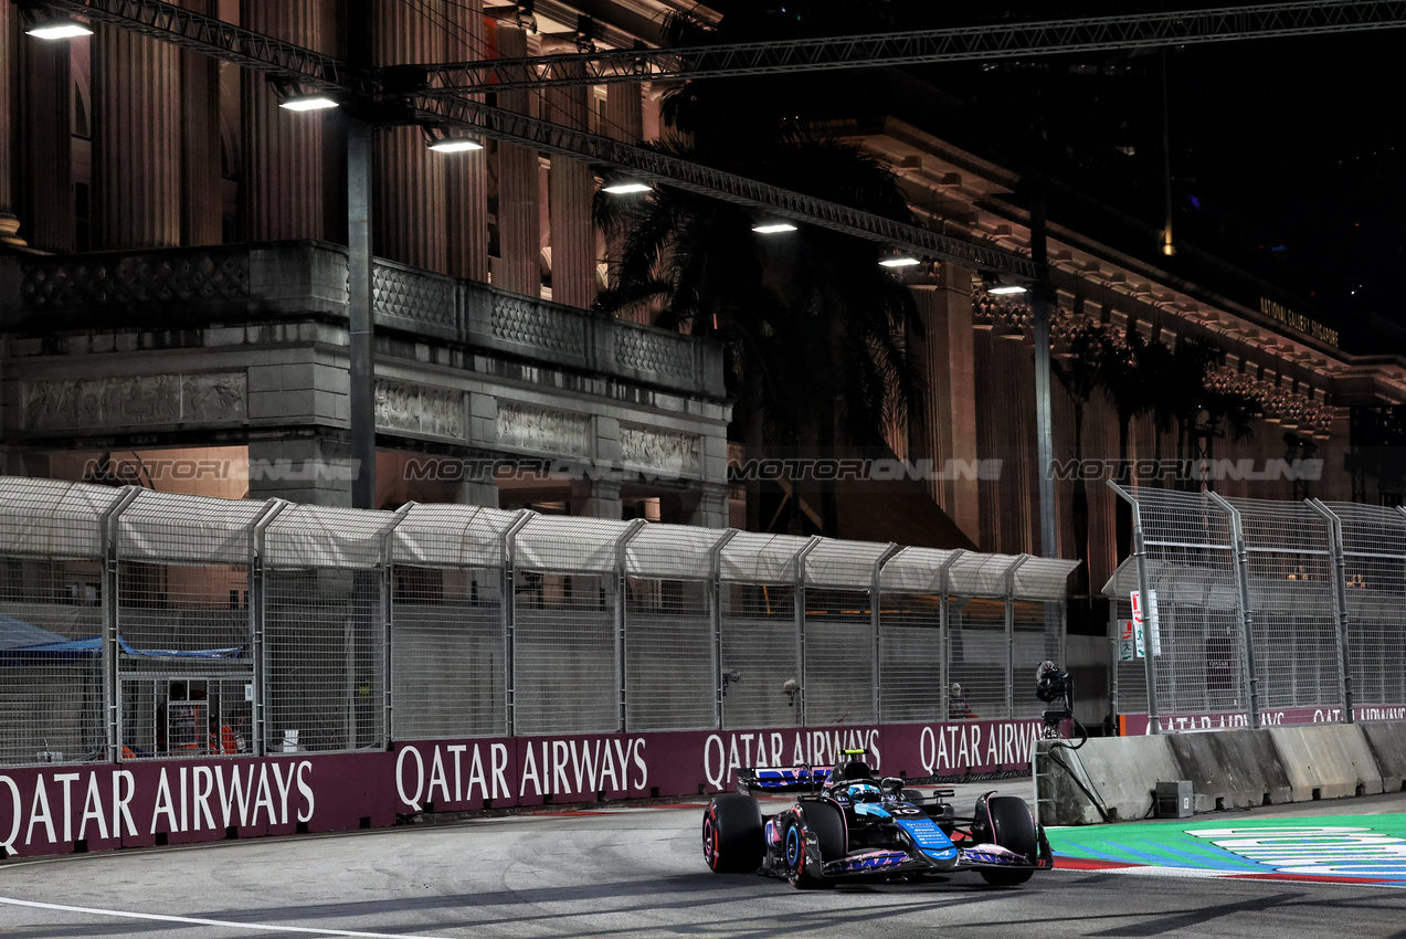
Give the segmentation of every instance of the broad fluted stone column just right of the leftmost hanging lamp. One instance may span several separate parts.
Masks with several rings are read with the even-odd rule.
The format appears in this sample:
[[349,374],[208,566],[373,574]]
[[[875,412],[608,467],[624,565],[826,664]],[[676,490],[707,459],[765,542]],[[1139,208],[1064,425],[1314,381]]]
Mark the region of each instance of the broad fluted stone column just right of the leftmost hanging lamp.
[[94,24],[93,247],[172,247],[181,222],[179,46]]

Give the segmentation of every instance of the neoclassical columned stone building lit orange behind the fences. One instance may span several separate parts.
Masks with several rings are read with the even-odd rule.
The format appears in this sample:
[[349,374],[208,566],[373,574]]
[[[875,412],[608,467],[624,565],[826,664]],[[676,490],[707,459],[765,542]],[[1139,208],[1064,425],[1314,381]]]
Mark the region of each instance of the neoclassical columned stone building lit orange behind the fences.
[[[335,0],[181,6],[347,53]],[[686,0],[373,8],[382,66],[657,45],[668,14],[718,21]],[[112,27],[66,44],[31,39],[14,4],[0,6],[0,469],[347,503],[337,115],[281,110],[259,75]],[[610,84],[503,93],[496,104],[637,142],[659,131],[661,93]],[[903,117],[839,121],[832,132],[894,167],[922,225],[1031,250],[1029,212],[1012,198],[1018,171]],[[430,152],[419,128],[375,134],[378,505],[531,505],[709,526],[747,517],[747,491],[728,481],[721,349],[591,311],[610,256],[592,221],[599,186],[585,162],[519,145],[449,156]],[[1056,356],[1080,322],[1168,344],[1213,339],[1226,351],[1215,381],[1263,405],[1249,437],[1199,441],[1198,453],[1209,441],[1216,458],[1251,461],[1219,491],[1302,496],[1305,481],[1263,471],[1299,457],[1323,460],[1312,495],[1374,498],[1346,462],[1351,409],[1406,401],[1402,350],[1344,350],[1272,288],[1246,278],[1223,292],[1174,276],[1140,243],[1091,231],[1102,229],[1050,219]],[[893,450],[997,471],[858,493],[837,534],[1038,552],[1029,309],[955,264],[904,276],[927,326],[915,347],[929,419],[897,429]],[[1052,402],[1054,454],[1067,461],[1073,399],[1056,385]],[[1084,455],[1111,464],[1118,425],[1115,408],[1091,396]],[[1175,433],[1160,436],[1135,417],[1129,455],[1177,455]],[[1085,475],[1094,585],[1119,561],[1107,475]],[[1071,495],[1064,472],[1064,557],[1074,555]]]

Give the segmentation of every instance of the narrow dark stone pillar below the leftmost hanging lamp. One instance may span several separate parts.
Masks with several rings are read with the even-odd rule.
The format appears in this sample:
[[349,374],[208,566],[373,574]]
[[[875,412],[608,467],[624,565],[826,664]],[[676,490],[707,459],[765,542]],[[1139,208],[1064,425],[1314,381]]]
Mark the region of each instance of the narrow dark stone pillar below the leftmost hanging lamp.
[[[18,42],[18,37],[15,39]],[[72,51],[66,42],[18,42],[24,70],[20,129],[22,197],[17,215],[30,219],[28,242],[45,252],[75,249]],[[6,56],[8,59],[8,56]]]

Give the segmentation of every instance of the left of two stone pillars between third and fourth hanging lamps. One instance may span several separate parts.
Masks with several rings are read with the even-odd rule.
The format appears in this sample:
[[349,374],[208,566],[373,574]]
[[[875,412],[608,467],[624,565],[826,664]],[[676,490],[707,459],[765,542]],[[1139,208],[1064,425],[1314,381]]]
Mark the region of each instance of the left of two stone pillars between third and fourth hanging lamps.
[[[527,55],[527,34],[498,27],[498,53],[513,59]],[[531,91],[505,91],[498,107],[537,115]],[[498,250],[502,274],[494,285],[527,297],[541,295],[541,190],[537,150],[516,143],[498,145]]]

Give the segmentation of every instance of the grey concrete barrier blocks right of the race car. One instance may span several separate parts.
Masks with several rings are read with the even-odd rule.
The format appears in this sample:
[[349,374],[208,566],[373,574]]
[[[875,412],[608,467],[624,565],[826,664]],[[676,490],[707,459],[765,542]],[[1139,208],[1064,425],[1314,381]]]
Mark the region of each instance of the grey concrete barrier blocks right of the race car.
[[1406,786],[1406,723],[1042,741],[1035,770],[1046,825],[1146,818],[1160,782],[1191,780],[1197,812],[1371,796]]

